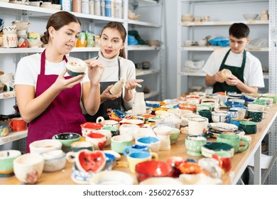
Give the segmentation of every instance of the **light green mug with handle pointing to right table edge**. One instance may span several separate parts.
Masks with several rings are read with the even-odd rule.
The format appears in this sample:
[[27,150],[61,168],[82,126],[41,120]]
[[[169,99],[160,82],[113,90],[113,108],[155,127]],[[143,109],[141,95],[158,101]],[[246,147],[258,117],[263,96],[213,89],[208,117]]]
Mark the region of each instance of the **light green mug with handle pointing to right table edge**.
[[[240,142],[244,141],[244,147],[240,147]],[[239,137],[233,134],[219,134],[217,136],[217,142],[224,142],[234,147],[234,153],[246,151],[249,147],[249,141],[244,137]]]

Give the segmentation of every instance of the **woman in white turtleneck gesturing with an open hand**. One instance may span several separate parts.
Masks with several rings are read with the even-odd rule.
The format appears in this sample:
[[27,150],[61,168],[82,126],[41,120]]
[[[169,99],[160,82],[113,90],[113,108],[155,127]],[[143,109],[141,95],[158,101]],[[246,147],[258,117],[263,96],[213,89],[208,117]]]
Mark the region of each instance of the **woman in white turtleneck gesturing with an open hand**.
[[[97,117],[109,119],[107,109],[129,110],[134,101],[136,87],[143,80],[136,80],[136,68],[131,60],[125,58],[126,30],[122,23],[109,22],[100,33],[100,50],[98,56],[86,60],[87,64],[99,60],[105,68],[100,82],[101,105],[97,114],[87,115],[87,121],[95,122]],[[109,90],[120,79],[126,80],[124,87],[116,95]]]

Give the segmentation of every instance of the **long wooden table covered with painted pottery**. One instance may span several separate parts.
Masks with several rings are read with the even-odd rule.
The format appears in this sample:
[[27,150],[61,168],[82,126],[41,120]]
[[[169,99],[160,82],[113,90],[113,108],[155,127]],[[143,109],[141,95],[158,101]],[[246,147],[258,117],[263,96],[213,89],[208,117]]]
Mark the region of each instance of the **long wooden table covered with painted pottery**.
[[[254,165],[254,184],[261,184],[261,166],[260,166],[260,158],[261,158],[261,141],[266,136],[266,133],[273,124],[274,120],[277,116],[277,104],[273,104],[271,106],[266,117],[259,123],[257,123],[257,133],[249,134],[251,136],[251,143],[249,144],[249,149],[242,153],[234,154],[232,157],[232,168],[231,171],[224,173],[222,176],[223,184],[237,184],[241,174],[244,172],[246,166],[248,165],[251,158],[255,158]],[[161,161],[166,161],[170,156],[182,156],[184,158],[194,158],[199,160],[202,157],[190,156],[186,153],[187,149],[185,148],[185,136],[184,134],[180,134],[180,138],[175,144],[171,145],[170,151],[159,151],[158,156]],[[209,139],[208,141],[215,141],[216,139]],[[121,161],[126,161],[125,156],[121,156]],[[40,176],[37,184],[44,185],[74,185],[76,184],[72,181],[70,174],[72,169],[72,163],[66,163],[66,166],[61,171],[56,171],[52,173],[43,172]],[[129,168],[114,168],[118,171],[125,171],[127,173],[131,173]],[[136,174],[131,173],[134,178],[136,178]],[[18,185],[21,184],[20,181],[15,176],[11,176],[9,178],[0,178],[0,184],[6,185]]]

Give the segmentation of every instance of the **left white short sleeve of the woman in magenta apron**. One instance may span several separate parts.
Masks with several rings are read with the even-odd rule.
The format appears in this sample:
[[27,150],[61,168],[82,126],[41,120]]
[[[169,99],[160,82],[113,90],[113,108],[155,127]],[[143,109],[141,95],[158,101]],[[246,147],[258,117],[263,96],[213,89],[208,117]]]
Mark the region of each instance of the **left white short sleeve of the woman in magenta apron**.
[[38,74],[31,70],[31,61],[28,58],[21,58],[16,68],[16,75],[14,78],[14,85],[32,85],[36,87]]

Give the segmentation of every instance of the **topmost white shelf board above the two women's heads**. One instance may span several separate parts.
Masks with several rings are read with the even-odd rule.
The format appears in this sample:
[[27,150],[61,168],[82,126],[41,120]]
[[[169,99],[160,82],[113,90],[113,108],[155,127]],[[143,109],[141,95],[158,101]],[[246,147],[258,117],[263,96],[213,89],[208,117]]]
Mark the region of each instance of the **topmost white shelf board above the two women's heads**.
[[[45,9],[45,8],[40,8],[36,6],[26,6],[22,4],[11,4],[11,3],[6,3],[6,2],[0,2],[0,7],[1,10],[4,11],[30,11],[33,12],[33,14],[28,14],[29,16],[40,16],[43,18],[48,18],[50,15],[60,11],[60,10],[55,10],[55,9]],[[81,13],[75,13],[71,12],[78,18],[85,18],[85,19],[93,19],[93,20],[99,20],[99,21],[118,21],[123,23],[124,19],[123,18],[114,18],[114,17],[107,17],[107,16],[98,16],[98,15],[92,15],[92,14],[81,14]],[[18,15],[21,15],[18,13]]]

